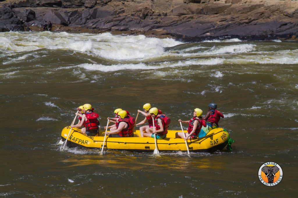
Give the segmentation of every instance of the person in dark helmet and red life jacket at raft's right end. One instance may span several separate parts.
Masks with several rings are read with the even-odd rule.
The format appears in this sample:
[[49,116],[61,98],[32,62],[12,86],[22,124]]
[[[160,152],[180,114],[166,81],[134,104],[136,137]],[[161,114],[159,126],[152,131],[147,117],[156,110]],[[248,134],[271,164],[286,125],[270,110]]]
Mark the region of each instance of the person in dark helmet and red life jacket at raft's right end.
[[209,111],[206,113],[205,117],[203,118],[207,122],[207,127],[204,127],[204,131],[208,130],[208,132],[212,129],[215,129],[218,127],[218,121],[221,118],[224,118],[224,115],[216,110],[217,109],[217,104],[214,102],[210,103],[208,105]]

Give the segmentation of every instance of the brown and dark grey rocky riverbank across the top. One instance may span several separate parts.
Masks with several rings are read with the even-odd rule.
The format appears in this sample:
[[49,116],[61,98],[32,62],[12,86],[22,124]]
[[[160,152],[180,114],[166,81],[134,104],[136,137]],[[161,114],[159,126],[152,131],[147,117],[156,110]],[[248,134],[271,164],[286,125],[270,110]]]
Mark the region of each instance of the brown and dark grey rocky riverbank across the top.
[[[1,0],[0,0],[1,1]],[[146,34],[187,41],[298,36],[298,0],[6,0],[0,31]]]

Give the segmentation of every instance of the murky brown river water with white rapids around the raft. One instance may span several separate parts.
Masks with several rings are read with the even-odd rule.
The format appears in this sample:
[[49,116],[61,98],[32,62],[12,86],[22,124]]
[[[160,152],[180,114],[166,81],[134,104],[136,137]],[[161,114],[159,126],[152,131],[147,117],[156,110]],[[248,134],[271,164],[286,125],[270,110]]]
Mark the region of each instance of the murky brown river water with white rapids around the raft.
[[[294,197],[298,42],[174,39],[66,32],[0,33],[1,197]],[[148,153],[70,148],[63,127],[90,103],[100,123],[145,103],[171,130],[215,102],[232,151]],[[142,116],[139,116],[141,121]],[[187,126],[184,125],[186,129]],[[103,130],[103,129],[102,129]],[[258,179],[278,163],[282,181]]]

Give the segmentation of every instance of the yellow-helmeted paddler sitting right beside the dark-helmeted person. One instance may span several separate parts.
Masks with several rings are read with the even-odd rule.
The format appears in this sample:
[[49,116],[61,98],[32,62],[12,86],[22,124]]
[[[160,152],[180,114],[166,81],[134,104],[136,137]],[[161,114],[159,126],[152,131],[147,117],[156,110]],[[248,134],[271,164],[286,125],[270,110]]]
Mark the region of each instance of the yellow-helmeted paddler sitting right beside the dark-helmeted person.
[[184,140],[190,140],[190,139],[194,140],[194,139],[197,139],[198,137],[200,138],[199,134],[201,132],[201,128],[202,126],[206,126],[206,122],[202,120],[202,117],[201,117],[202,113],[203,111],[201,109],[195,108],[193,112],[193,118],[191,118],[189,121],[182,121],[181,119],[179,119],[178,120],[179,122],[188,123],[188,129],[187,129],[187,133],[185,133],[185,138],[182,132],[177,132],[176,138],[184,138]]

